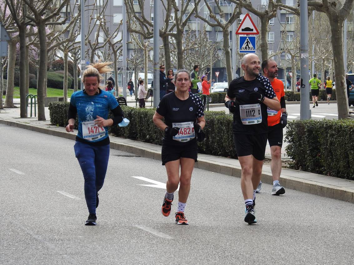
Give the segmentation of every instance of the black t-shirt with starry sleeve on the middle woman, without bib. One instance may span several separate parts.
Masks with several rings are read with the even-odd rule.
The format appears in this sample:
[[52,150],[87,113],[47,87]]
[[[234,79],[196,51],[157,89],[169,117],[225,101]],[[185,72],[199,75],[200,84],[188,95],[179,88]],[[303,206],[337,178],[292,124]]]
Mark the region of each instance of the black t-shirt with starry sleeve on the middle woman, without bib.
[[[173,127],[172,123],[196,122],[196,118],[204,116],[201,99],[199,96],[190,92],[189,98],[186,100],[177,98],[176,94],[173,92],[165,95],[161,99],[156,112],[164,116],[165,124],[170,127]],[[172,137],[165,134],[162,143],[166,145],[185,145],[196,143],[196,138],[188,142],[179,142],[172,140]]]

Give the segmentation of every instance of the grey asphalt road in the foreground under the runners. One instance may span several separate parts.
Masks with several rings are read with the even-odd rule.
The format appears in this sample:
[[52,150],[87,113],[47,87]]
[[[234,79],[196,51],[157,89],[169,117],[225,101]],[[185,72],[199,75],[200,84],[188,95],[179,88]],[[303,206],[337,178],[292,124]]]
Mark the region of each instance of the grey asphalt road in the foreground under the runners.
[[258,224],[247,225],[240,179],[195,169],[190,225],[176,225],[160,213],[164,189],[132,177],[164,183],[161,162],[112,149],[98,225],[85,226],[74,141],[4,125],[0,134],[0,264],[353,262],[353,204],[290,189],[275,197],[263,184]]

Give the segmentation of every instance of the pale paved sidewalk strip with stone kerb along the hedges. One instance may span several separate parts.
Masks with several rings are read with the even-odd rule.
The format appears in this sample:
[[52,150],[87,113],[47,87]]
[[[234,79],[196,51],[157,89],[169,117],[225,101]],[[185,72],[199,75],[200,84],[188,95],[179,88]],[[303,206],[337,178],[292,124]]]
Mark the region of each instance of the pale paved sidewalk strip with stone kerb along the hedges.
[[[47,107],[45,115],[49,119]],[[75,140],[76,132],[67,133],[65,128],[51,125],[49,120],[39,121],[36,117],[19,117],[19,108],[0,110],[0,124]],[[110,142],[113,149],[161,160],[161,146],[113,136],[110,136]],[[241,167],[236,159],[198,154],[198,163],[195,167],[235,177],[241,176]],[[354,181],[291,169],[282,169],[280,177],[280,183],[285,188],[354,203]],[[270,166],[263,166],[262,182],[272,183]]]

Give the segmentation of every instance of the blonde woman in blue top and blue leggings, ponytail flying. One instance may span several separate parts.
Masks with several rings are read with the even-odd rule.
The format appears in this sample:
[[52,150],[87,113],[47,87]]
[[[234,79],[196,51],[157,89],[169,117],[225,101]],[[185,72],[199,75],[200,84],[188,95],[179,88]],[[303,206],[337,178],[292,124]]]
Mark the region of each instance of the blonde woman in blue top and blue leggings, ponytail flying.
[[[101,90],[99,83],[102,73],[110,72],[112,62],[96,63],[87,66],[82,75],[85,89],[75,92],[70,99],[69,122],[66,131],[74,129],[76,114],[79,116],[79,130],[74,145],[75,157],[84,174],[84,190],[89,218],[85,225],[96,225],[98,191],[102,188],[109,157],[108,126],[119,124],[123,112],[115,97]],[[111,110],[114,117],[109,119]]]

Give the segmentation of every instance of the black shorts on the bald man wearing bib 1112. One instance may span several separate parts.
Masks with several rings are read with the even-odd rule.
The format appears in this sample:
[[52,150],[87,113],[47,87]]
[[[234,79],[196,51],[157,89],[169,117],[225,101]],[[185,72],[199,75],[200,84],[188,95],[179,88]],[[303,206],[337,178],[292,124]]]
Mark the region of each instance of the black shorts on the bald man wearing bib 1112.
[[233,134],[235,150],[238,157],[253,155],[257,160],[264,160],[267,133]]

